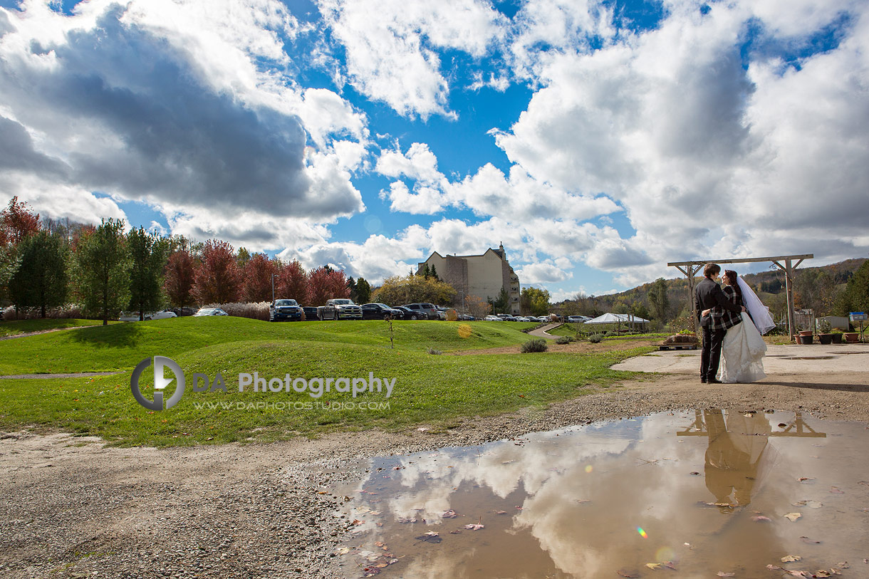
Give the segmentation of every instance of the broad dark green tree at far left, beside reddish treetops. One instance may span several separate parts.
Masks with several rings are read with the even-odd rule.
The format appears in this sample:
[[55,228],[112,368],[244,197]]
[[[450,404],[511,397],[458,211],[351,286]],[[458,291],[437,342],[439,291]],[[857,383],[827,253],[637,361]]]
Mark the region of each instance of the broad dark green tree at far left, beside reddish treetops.
[[46,309],[63,305],[67,291],[69,246],[62,236],[39,231],[17,247],[19,266],[10,279],[10,297],[17,309]]

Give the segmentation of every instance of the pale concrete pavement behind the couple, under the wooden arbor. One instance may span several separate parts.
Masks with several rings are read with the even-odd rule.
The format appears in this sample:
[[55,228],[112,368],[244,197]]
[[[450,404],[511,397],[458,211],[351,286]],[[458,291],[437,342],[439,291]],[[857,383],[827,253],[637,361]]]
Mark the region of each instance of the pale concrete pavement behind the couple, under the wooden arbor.
[[[869,344],[771,345],[763,361],[767,374],[869,372]],[[700,349],[669,350],[628,358],[613,369],[700,375]]]

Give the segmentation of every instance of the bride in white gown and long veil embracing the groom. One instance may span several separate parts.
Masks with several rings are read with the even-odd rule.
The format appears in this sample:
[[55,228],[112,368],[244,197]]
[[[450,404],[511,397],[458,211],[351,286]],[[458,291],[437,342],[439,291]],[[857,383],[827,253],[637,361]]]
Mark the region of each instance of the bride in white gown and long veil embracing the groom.
[[[748,311],[742,312],[742,323],[727,329],[721,347],[718,378],[723,383],[757,382],[766,377],[763,371],[766,343],[761,334],[766,334],[775,327],[773,317],[735,271],[725,270],[721,279],[725,283],[723,290],[727,298],[736,305],[744,305]],[[707,309],[703,314],[706,315],[708,311]]]

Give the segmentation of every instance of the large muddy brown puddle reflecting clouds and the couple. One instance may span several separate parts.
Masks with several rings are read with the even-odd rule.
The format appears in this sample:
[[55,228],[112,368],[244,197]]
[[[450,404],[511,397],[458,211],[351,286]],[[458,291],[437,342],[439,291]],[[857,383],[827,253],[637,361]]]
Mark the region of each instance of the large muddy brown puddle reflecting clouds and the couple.
[[336,558],[348,577],[869,577],[867,449],[862,423],[701,410],[376,458]]

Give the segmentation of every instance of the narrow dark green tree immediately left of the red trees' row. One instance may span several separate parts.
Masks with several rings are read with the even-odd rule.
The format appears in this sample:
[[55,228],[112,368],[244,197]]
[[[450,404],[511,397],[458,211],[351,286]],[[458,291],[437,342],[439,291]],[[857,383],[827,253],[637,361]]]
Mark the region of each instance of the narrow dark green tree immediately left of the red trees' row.
[[169,243],[140,227],[127,233],[127,247],[132,260],[129,270],[129,309],[139,312],[141,322],[145,319],[146,311],[153,311],[163,303],[163,270]]

